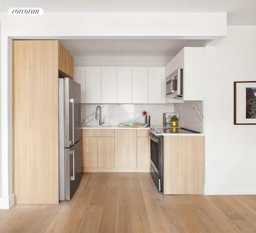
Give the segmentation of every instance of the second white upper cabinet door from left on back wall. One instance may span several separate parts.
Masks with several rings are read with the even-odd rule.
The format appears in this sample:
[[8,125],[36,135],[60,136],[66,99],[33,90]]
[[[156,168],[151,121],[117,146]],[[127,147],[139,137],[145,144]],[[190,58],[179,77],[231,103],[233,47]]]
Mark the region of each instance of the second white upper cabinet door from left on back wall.
[[101,67],[85,69],[85,103],[101,102]]

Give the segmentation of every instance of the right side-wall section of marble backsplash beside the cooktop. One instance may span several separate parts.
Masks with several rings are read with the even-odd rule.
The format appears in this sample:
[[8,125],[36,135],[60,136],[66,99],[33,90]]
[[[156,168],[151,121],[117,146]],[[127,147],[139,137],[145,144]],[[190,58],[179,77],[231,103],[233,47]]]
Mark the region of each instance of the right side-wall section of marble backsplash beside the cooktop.
[[174,113],[179,116],[179,126],[204,132],[204,101],[174,103]]

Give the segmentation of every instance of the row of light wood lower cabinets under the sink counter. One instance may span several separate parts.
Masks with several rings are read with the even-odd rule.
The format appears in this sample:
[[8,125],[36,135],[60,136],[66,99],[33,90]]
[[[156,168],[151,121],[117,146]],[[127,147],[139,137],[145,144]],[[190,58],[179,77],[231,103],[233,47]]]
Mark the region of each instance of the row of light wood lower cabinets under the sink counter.
[[150,172],[148,130],[82,129],[82,172]]

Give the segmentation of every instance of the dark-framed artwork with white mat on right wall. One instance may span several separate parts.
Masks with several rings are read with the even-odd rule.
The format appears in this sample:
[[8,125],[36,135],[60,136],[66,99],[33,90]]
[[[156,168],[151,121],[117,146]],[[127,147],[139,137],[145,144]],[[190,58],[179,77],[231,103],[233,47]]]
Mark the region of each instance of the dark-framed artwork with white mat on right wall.
[[234,124],[256,124],[256,81],[234,82]]

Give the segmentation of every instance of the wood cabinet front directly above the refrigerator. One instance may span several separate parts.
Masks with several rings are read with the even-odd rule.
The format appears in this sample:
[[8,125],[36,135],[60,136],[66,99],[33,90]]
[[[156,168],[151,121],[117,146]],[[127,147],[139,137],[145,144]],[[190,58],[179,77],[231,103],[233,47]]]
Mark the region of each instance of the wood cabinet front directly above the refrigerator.
[[60,42],[58,42],[58,69],[74,79],[74,57]]

